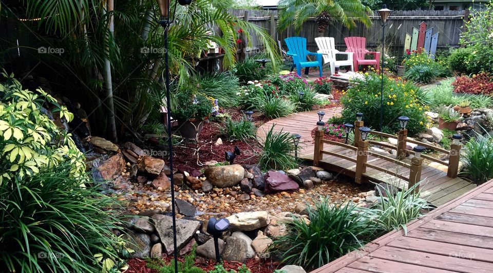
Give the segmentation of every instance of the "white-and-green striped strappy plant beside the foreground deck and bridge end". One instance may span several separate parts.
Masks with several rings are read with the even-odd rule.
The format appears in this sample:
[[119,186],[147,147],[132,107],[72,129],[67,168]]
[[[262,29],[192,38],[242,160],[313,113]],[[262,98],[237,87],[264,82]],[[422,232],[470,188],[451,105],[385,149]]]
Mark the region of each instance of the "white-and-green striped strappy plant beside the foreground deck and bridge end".
[[[387,188],[378,187],[381,192],[379,202],[366,211],[366,216],[377,223],[377,230],[383,233],[403,229],[407,234],[406,224],[423,215],[422,210],[431,209],[428,202],[420,198],[416,187],[419,183],[406,191],[398,192],[395,196]],[[384,196],[386,193],[387,197]]]

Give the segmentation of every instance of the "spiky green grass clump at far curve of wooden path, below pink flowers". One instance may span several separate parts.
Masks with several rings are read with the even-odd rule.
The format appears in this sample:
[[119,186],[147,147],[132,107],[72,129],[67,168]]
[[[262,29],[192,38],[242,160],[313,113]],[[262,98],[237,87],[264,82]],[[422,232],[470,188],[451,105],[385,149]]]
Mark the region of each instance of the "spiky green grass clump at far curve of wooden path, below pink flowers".
[[287,116],[296,109],[295,104],[282,97],[256,97],[253,107],[268,118]]

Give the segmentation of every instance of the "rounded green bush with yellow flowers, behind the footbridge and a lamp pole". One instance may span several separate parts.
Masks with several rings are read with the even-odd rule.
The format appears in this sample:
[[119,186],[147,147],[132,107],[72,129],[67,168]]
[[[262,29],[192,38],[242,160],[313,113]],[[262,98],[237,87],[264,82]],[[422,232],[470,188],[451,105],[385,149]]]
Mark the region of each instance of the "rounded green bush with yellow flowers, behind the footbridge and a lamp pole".
[[[356,113],[364,114],[363,120],[368,127],[380,127],[381,80],[377,74],[365,73],[363,79],[355,79],[353,87],[347,90],[340,101],[344,106],[342,119],[346,122],[356,120]],[[423,132],[427,125],[424,115],[428,107],[423,106],[416,97],[418,87],[411,82],[395,81],[384,75],[383,125],[392,132],[400,129],[400,116],[408,116],[407,129],[410,134]]]

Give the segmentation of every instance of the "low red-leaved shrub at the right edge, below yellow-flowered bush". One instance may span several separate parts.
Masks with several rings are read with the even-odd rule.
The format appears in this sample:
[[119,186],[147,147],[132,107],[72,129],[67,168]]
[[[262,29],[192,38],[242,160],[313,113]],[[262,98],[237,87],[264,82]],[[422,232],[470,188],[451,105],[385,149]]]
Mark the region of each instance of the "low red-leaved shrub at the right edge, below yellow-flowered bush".
[[488,95],[493,93],[493,77],[488,73],[460,76],[452,82],[453,92],[461,94]]

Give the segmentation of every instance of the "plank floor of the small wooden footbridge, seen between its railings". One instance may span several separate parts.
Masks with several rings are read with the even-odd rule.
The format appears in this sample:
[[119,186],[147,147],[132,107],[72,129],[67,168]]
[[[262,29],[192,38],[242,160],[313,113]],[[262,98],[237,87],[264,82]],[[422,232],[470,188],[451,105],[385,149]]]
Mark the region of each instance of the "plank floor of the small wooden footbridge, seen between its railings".
[[[345,155],[356,159],[356,153],[352,150],[346,149],[340,146],[325,145],[324,151],[330,151],[339,155]],[[375,151],[372,151],[376,153]],[[387,154],[388,156],[388,154]],[[304,159],[313,160],[313,153],[306,154]],[[403,160],[406,163],[410,163],[410,160]],[[374,156],[368,157],[368,163],[376,166],[383,167],[386,170],[396,172],[402,176],[409,175],[409,169]],[[344,174],[349,177],[354,177],[356,170],[356,163],[342,159],[339,157],[324,155],[319,162],[321,167],[326,170],[330,170],[339,174]],[[407,188],[407,182],[399,179],[393,175],[389,175],[371,168],[367,168],[367,172],[363,174],[363,178],[366,181],[372,181],[375,183],[385,182],[394,185],[399,188]],[[446,172],[435,169],[433,167],[423,164],[421,172],[421,197],[435,206],[440,206],[464,193],[472,190],[476,187],[475,184],[468,182],[462,178],[451,178],[447,176]]]

